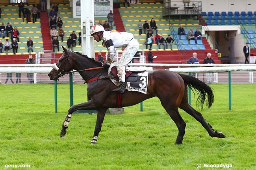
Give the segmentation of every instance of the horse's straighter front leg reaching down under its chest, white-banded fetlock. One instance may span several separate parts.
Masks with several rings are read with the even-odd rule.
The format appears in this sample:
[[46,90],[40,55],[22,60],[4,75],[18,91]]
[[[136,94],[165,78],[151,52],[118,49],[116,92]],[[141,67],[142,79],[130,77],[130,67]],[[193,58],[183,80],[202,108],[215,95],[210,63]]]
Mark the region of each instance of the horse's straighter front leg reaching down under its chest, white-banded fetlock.
[[104,121],[104,117],[105,117],[107,109],[108,108],[102,108],[102,109],[98,110],[96,126],[95,126],[95,130],[94,130],[93,139],[91,140],[91,144],[95,144],[98,140],[98,134],[100,133],[101,126]]

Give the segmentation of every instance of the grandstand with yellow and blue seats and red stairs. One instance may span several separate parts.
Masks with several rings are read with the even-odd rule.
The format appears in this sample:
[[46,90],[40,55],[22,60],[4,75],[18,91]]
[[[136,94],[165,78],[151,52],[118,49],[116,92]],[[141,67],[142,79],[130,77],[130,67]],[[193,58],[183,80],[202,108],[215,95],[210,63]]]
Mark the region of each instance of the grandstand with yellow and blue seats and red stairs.
[[[52,3],[55,2],[57,2],[59,7],[58,17],[61,17],[63,21],[63,30],[65,32],[64,41],[61,42],[60,37],[58,39],[59,46],[67,47],[67,39],[72,31],[75,31],[77,36],[81,31],[80,18],[73,17],[75,16],[73,13],[74,7],[70,7],[68,0],[50,1],[48,13],[51,10]],[[158,27],[158,34],[164,38],[167,35],[171,35],[174,39],[172,49],[169,46],[163,50],[162,46],[161,49],[158,49],[157,44],[152,45],[153,54],[158,56],[158,58],[154,59],[154,62],[158,63],[186,63],[193,52],[198,53],[198,58],[201,62],[206,57],[206,53],[211,53],[215,63],[241,63],[244,60],[242,48],[245,42],[250,43],[251,55],[254,55],[254,53],[256,55],[254,50],[256,48],[256,12],[248,11],[247,9],[241,9],[241,11],[210,11],[208,1],[200,2],[201,5],[198,6],[195,5],[197,2],[191,0],[190,4],[184,4],[182,0],[177,0],[173,4],[168,4],[163,0],[139,0],[137,3],[132,1],[130,7],[127,7],[127,5],[123,7],[122,1],[114,1],[113,13],[115,18],[111,31],[133,33],[134,38],[139,42],[139,49],[145,51],[147,56],[148,49],[145,46],[146,34],[143,31],[143,34],[139,35],[137,24],[139,20],[143,24],[145,20],[149,23],[151,18],[154,18]],[[219,2],[214,3],[216,5]],[[38,6],[41,9],[40,3]],[[27,7],[31,11],[32,4],[28,4]],[[34,52],[32,54],[36,54],[39,51],[43,53],[44,50],[52,51],[48,13],[41,13],[40,18],[35,23],[26,23],[26,18],[24,21],[23,18],[19,18],[19,7],[17,4],[9,4],[7,2],[2,4],[1,8],[1,22],[4,22],[5,26],[7,22],[10,22],[13,27],[16,26],[18,28],[20,42],[16,55],[11,53],[12,50],[8,54],[1,53],[0,64],[24,63],[24,60],[28,57],[26,46],[28,37],[32,37],[34,43]],[[105,20],[107,20],[106,16],[95,15],[95,24],[99,21],[103,24]],[[180,25],[184,27],[186,35],[178,35],[177,30]],[[202,40],[198,40],[197,44],[194,40],[187,39],[187,33],[190,29],[194,31],[199,29],[202,33]],[[235,36],[235,42],[233,42],[231,39]],[[79,45],[78,40],[76,43],[77,45],[73,48],[73,51],[82,52],[82,47]],[[234,49],[234,53],[231,53],[230,49]],[[102,42],[95,41],[96,59],[98,51],[102,51],[103,55],[107,52],[106,48],[102,46]],[[220,54],[218,55],[216,51]],[[60,49],[56,53],[54,56],[59,57],[62,50]],[[224,60],[219,58],[221,56],[228,58]]]

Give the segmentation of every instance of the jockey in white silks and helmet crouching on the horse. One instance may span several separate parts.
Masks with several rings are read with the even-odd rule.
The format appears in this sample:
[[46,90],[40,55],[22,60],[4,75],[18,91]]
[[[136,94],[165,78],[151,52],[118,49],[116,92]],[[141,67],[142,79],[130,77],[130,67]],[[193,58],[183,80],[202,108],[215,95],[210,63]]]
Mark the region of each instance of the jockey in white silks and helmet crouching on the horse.
[[135,53],[139,49],[139,42],[135,40],[132,33],[118,32],[118,31],[105,31],[101,25],[94,25],[90,30],[90,36],[99,42],[102,40],[102,45],[108,49],[106,62],[102,66],[110,65],[114,62],[116,56],[115,48],[125,47],[122,56],[117,63],[117,75],[119,78],[120,92],[124,93],[125,86],[125,66],[132,60]]

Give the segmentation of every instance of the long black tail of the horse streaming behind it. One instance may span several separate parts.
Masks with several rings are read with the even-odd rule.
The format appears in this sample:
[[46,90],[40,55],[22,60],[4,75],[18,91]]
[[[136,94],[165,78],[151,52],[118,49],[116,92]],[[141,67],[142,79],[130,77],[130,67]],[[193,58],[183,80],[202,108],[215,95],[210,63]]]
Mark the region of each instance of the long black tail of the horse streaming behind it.
[[[206,105],[208,108],[210,108],[214,101],[214,95],[211,87],[191,75],[185,75],[180,73],[179,75],[180,77],[182,77],[185,84],[187,84],[187,86],[191,88],[192,91],[193,91],[193,88],[195,89],[198,95],[197,105],[200,104],[201,108],[203,109],[204,101],[206,100]],[[208,96],[206,95],[206,93],[208,94]]]

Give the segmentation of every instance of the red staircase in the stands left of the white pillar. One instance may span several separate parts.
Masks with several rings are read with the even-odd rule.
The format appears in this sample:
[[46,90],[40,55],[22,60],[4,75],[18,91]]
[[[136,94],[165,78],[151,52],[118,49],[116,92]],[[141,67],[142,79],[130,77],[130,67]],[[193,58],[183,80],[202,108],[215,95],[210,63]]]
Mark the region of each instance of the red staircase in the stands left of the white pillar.
[[43,42],[44,42],[44,44],[43,44],[44,50],[52,51],[52,40],[50,37],[50,26],[49,26],[49,21],[48,21],[48,13],[41,12],[40,19],[41,19],[42,38],[43,38]]

